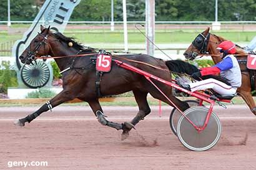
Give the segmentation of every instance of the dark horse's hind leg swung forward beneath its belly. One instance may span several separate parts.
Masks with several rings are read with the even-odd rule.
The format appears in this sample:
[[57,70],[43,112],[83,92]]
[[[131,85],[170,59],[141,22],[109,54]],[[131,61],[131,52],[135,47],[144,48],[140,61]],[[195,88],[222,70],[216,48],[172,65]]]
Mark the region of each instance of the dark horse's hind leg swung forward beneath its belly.
[[129,131],[134,128],[140,120],[144,120],[144,117],[150,113],[149,103],[147,103],[147,92],[140,92],[139,90],[133,90],[132,92],[134,93],[135,100],[139,106],[139,112],[130,123],[124,123],[122,140],[126,139],[129,136]]

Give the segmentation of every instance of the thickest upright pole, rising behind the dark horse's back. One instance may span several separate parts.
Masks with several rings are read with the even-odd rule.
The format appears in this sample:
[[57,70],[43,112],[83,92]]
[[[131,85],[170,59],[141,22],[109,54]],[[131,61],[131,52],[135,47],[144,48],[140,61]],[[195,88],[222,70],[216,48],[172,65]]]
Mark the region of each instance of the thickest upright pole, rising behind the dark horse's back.
[[[145,0],[145,30],[146,36],[155,42],[155,0]],[[154,56],[154,44],[146,39],[146,51],[148,55]]]

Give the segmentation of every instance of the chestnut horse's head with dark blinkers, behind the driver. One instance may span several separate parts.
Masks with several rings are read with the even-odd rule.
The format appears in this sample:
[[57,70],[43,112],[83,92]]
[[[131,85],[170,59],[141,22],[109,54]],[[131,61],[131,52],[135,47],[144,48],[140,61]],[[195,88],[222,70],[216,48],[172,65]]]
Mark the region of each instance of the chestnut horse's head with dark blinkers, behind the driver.
[[210,34],[209,30],[210,27],[195,37],[192,44],[184,52],[186,59],[194,60],[199,54],[219,54],[216,48],[217,45],[222,42],[222,38]]

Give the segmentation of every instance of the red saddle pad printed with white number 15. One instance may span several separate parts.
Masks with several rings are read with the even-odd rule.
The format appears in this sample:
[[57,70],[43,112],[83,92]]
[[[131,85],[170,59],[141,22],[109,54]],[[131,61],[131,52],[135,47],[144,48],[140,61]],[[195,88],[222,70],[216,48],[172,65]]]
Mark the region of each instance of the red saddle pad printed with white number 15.
[[96,70],[98,72],[110,72],[111,71],[111,55],[99,54],[96,60]]

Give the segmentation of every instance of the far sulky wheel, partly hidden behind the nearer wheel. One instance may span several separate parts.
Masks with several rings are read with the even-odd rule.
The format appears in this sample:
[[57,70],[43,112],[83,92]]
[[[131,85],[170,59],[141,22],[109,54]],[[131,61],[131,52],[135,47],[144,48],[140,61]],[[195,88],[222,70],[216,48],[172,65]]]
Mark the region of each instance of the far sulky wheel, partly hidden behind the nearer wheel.
[[[187,102],[190,107],[199,105],[199,101],[197,100],[185,100],[184,102]],[[177,136],[177,124],[180,116],[182,116],[182,114],[176,108],[173,108],[172,112],[170,113],[169,123],[170,123],[170,129],[176,136]]]

